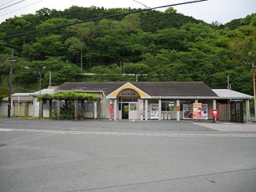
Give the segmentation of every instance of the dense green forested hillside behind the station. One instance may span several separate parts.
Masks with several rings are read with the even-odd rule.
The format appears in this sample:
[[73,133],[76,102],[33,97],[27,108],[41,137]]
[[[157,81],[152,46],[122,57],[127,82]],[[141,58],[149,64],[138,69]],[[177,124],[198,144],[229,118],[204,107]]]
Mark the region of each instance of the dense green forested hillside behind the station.
[[[128,11],[77,6],[64,11],[42,9],[2,22],[0,37]],[[74,81],[135,81],[134,76],[122,74],[148,74],[138,76],[138,81],[202,81],[212,88],[226,88],[229,75],[232,89],[253,94],[256,14],[219,26],[170,8],[1,39],[2,87],[7,87],[10,62],[6,59],[12,49],[17,60],[14,91],[38,90],[38,74],[25,66],[34,70],[45,66],[43,87],[50,70],[56,86]]]

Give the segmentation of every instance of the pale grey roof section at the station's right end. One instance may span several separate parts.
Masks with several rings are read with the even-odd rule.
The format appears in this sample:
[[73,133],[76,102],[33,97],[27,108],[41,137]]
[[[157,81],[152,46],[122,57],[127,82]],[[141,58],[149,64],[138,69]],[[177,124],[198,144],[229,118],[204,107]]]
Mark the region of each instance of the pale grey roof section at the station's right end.
[[242,94],[235,90],[228,90],[228,89],[212,89],[215,94],[218,94],[220,98],[231,98],[231,99],[250,99],[254,98],[249,94]]

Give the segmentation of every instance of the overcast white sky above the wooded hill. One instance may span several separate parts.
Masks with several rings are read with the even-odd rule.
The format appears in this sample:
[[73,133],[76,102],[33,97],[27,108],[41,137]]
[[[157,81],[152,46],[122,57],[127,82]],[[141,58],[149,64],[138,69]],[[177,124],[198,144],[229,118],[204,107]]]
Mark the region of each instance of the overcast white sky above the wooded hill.
[[[98,6],[104,8],[145,8],[138,2],[153,8],[166,6],[188,0],[0,0],[0,23],[6,18],[14,18],[22,14],[34,14],[44,7],[65,10],[70,6]],[[19,3],[17,3],[19,2]],[[17,3],[14,6],[11,4]],[[6,7],[9,6],[9,7]],[[6,7],[6,8],[5,8]],[[244,18],[247,14],[256,13],[256,0],[208,0],[182,6],[174,6],[178,13],[201,19],[205,22],[225,24],[235,18]],[[162,9],[163,11],[164,9]]]

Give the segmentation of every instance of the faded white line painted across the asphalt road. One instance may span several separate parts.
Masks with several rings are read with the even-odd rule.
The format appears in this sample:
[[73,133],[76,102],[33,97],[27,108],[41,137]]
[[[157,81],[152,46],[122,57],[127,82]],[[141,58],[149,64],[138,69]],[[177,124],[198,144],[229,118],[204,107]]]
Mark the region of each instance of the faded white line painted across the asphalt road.
[[1,131],[33,132],[43,134],[87,134],[87,135],[130,135],[147,137],[231,137],[231,138],[256,138],[256,134],[171,134],[171,133],[133,133],[133,132],[98,132],[98,131],[76,131],[76,130],[32,130],[32,129],[9,129],[2,128]]

